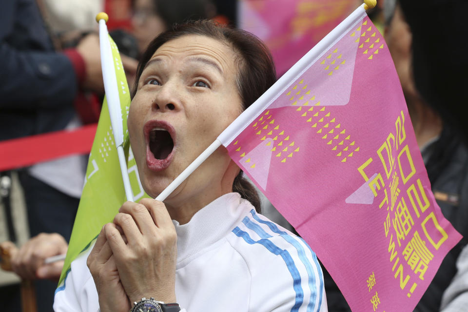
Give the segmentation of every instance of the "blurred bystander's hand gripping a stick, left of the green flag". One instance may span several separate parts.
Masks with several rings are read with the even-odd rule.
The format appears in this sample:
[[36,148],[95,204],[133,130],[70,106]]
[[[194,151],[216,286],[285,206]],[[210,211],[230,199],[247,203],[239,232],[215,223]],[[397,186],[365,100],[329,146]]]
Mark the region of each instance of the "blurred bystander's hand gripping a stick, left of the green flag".
[[41,233],[29,239],[20,249],[12,243],[2,244],[2,248],[7,247],[11,255],[12,271],[21,278],[58,280],[63,260],[49,264],[44,263],[44,260],[54,255],[66,254],[68,244],[60,234]]

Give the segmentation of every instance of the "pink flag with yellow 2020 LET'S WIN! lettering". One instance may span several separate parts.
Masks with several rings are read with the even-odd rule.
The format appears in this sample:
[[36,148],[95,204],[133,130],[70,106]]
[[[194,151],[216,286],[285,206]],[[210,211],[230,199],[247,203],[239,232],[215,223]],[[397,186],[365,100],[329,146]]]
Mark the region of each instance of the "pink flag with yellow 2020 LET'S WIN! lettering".
[[431,193],[387,45],[364,9],[353,14],[219,139],[353,311],[412,311],[461,235]]

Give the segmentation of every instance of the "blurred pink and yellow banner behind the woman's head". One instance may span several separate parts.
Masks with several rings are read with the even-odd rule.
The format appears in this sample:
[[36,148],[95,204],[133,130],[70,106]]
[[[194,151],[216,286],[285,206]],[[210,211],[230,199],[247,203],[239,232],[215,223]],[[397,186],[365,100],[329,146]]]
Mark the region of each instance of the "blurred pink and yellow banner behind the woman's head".
[[267,44],[280,76],[360,3],[356,0],[240,0],[239,28]]

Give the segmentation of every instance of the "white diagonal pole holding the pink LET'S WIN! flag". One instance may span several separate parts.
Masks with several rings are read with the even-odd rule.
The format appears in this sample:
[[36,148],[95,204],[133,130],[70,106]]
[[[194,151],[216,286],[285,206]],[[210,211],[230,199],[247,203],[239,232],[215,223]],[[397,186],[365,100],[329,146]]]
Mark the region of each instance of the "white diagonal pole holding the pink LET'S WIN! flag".
[[198,166],[206,160],[221,145],[228,146],[252,121],[267,108],[279,95],[283,94],[287,87],[301,76],[326,50],[336,41],[341,39],[343,33],[351,25],[358,22],[366,14],[366,10],[373,8],[376,0],[364,0],[364,3],[354,10],[345,20],[338,24],[327,36],[317,43],[306,55],[295,63],[273,86],[271,86],[260,98],[249,106],[216,138],[216,140],[198,156],[167,188],[156,197],[163,201],[170,195]]

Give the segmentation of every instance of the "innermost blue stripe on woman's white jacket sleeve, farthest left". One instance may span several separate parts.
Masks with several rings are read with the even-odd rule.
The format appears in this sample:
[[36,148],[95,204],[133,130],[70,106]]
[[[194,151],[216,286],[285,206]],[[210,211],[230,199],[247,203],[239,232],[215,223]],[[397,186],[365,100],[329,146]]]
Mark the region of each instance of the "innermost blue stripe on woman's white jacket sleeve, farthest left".
[[243,238],[244,241],[247,242],[248,244],[263,245],[272,254],[280,255],[283,258],[289,272],[291,273],[291,276],[293,279],[292,288],[294,289],[294,292],[296,293],[295,303],[292,306],[291,312],[299,311],[299,308],[301,307],[302,302],[304,301],[304,292],[301,287],[301,275],[299,274],[299,271],[297,271],[297,268],[294,264],[294,260],[292,259],[291,254],[289,254],[287,250],[278,248],[275,244],[273,244],[273,242],[271,242],[270,240],[266,238],[262,238],[257,241],[253,240],[247,232],[242,231],[241,229],[239,229],[239,227],[235,227],[232,232],[238,237]]

